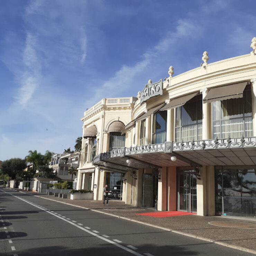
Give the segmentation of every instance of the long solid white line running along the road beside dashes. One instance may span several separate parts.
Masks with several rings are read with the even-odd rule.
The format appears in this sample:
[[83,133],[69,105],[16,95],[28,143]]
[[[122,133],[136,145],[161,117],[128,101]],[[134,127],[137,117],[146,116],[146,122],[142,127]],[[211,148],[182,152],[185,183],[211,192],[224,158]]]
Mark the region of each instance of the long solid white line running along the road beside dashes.
[[[3,191],[3,190],[2,190],[2,191]],[[23,199],[23,198],[20,198],[19,196],[13,195],[13,194],[8,193],[8,192],[6,192],[6,191],[3,191],[3,192],[4,192],[4,193],[7,193],[7,194],[10,194],[10,195],[12,195],[12,196],[18,198],[19,200],[24,201],[24,202],[26,202],[26,203],[28,203],[28,204],[30,204],[30,205],[33,205],[33,203],[31,203],[31,202],[29,202],[29,201],[27,201],[27,200],[25,200],[25,199]],[[34,205],[34,206],[35,206],[35,205]],[[40,206],[37,206],[37,208],[38,208],[38,209],[42,209]],[[47,211],[46,211],[46,212],[47,212]],[[108,243],[110,243],[110,244],[112,244],[112,245],[115,245],[116,247],[119,247],[119,248],[121,248],[121,249],[123,249],[123,250],[126,250],[126,252],[129,252],[129,253],[131,253],[131,254],[133,254],[133,255],[136,255],[136,256],[143,256],[142,254],[137,253],[137,252],[134,252],[133,250],[131,250],[131,249],[129,249],[129,248],[123,246],[123,245],[120,245],[120,244],[118,244],[118,243],[115,243],[115,241],[112,241],[112,240],[110,240],[110,239],[107,239],[107,238],[105,238],[105,237],[102,237],[102,236],[100,236],[100,235],[97,235],[97,234],[95,234],[94,232],[92,232],[92,231],[90,231],[90,230],[87,230],[87,229],[85,229],[85,228],[83,228],[83,227],[81,227],[81,226],[79,226],[79,225],[73,223],[72,221],[69,221],[69,220],[67,220],[67,219],[64,219],[64,218],[62,218],[62,217],[60,217],[60,216],[58,216],[58,215],[56,215],[56,214],[54,214],[54,213],[51,213],[51,212],[47,212],[47,213],[52,214],[52,215],[55,216],[56,218],[59,218],[59,219],[61,219],[61,220],[63,220],[63,221],[66,221],[66,222],[70,223],[71,225],[73,225],[73,226],[75,226],[75,227],[77,227],[77,228],[79,228],[79,229],[81,229],[81,230],[83,230],[83,231],[89,233],[90,235],[93,235],[93,236],[95,236],[95,237],[97,237],[97,238],[99,238],[99,239],[101,239],[101,240],[103,240],[103,241],[106,241],[106,242],[108,242]]]

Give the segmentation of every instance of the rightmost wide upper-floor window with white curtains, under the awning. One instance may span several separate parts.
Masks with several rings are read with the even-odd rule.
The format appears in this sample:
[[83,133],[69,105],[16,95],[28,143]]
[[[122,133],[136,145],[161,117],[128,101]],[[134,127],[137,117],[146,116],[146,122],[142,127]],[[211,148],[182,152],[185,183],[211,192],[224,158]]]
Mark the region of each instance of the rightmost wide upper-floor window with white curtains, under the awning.
[[247,85],[243,98],[214,101],[213,138],[253,136],[252,92]]

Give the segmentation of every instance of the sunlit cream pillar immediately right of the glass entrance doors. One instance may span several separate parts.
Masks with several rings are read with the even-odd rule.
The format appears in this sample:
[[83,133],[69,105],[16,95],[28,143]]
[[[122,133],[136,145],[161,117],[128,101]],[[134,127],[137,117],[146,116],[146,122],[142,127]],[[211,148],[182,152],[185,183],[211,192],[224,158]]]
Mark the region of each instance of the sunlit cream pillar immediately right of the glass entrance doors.
[[196,204],[197,215],[207,216],[207,179],[206,179],[206,167],[200,167],[200,180],[197,180],[196,184]]

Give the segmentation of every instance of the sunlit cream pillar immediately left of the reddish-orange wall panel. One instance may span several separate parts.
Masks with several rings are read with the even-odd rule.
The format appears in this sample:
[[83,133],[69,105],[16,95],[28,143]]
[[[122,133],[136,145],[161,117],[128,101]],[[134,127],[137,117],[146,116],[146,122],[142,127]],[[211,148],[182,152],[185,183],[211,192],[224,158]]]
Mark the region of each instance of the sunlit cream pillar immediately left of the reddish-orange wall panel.
[[167,167],[162,167],[160,171],[160,179],[158,180],[158,191],[157,191],[157,210],[166,211],[166,185]]

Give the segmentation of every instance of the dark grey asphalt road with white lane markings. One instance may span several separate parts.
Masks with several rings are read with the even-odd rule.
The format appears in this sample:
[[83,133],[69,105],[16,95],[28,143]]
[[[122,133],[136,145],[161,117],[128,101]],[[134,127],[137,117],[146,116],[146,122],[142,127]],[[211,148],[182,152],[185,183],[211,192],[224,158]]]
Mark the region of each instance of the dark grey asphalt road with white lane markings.
[[253,255],[0,188],[0,255]]

